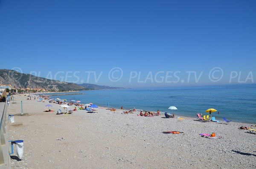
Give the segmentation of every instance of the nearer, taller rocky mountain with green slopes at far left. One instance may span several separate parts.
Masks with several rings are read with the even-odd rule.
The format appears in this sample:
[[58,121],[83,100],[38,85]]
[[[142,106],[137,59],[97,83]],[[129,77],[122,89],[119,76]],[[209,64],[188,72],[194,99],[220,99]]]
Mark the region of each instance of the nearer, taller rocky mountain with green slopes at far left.
[[0,84],[12,85],[20,89],[47,89],[51,91],[88,90],[75,83],[61,82],[32,74],[24,74],[15,70],[0,69]]

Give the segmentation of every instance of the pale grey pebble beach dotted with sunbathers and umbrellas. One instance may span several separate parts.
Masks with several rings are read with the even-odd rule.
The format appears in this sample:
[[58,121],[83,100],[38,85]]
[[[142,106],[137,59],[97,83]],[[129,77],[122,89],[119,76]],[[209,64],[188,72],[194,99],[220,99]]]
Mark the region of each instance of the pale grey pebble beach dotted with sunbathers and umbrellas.
[[[105,107],[97,113],[56,115],[60,105],[51,103],[55,112],[44,112],[48,100],[26,99],[15,95],[7,110],[15,115],[15,123],[9,122],[9,140],[24,140],[23,157],[11,155],[12,169],[256,168],[256,135],[239,129],[255,124],[200,122],[196,113],[195,118],[143,117],[140,112],[122,114],[121,109],[111,112]],[[200,136],[212,132],[217,137]]]

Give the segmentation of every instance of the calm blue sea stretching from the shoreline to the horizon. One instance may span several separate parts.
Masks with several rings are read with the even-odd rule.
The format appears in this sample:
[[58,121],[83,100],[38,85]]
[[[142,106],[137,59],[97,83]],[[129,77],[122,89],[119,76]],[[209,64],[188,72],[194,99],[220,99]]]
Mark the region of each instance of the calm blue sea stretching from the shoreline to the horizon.
[[[209,115],[205,111],[213,108],[218,110],[212,113],[217,120],[226,117],[227,120],[256,124],[256,84],[86,90],[75,93],[84,94],[51,97],[79,100],[84,104],[93,103],[109,108],[123,106],[124,109],[135,108],[142,111],[160,110],[162,113],[195,118],[197,113]],[[177,110],[170,110],[169,106],[175,106]]]

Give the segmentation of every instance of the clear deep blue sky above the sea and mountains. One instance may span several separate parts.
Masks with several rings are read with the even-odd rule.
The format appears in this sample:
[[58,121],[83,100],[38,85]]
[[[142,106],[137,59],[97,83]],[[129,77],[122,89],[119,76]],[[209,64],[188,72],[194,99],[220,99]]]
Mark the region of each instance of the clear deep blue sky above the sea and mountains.
[[0,0],[0,58],[74,83],[255,83],[256,1]]

